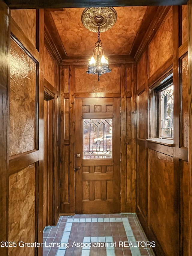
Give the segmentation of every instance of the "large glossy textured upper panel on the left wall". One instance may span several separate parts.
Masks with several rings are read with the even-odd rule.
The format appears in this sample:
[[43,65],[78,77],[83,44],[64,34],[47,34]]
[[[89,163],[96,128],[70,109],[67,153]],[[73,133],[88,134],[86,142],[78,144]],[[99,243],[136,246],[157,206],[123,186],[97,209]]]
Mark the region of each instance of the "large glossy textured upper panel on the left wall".
[[10,156],[35,148],[36,63],[11,39]]

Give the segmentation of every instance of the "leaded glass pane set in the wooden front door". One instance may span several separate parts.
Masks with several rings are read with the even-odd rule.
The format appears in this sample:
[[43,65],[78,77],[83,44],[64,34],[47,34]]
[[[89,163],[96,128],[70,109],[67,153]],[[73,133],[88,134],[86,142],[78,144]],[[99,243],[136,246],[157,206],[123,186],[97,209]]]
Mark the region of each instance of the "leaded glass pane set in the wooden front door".
[[83,119],[83,159],[112,158],[112,119]]

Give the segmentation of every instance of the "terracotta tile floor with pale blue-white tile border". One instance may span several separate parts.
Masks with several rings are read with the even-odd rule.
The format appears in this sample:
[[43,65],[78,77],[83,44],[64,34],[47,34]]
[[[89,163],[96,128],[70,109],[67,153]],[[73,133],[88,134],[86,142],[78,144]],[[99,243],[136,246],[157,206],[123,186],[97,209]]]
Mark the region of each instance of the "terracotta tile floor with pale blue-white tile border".
[[146,241],[135,214],[62,216],[44,229],[43,256],[155,255]]

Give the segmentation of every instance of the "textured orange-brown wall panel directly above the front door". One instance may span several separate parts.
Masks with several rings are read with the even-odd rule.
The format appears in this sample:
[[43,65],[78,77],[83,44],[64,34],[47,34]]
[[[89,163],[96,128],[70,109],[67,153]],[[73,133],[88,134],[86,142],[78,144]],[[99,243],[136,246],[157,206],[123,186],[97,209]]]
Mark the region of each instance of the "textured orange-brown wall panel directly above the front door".
[[101,75],[87,74],[86,68],[75,69],[75,92],[120,92],[120,69],[112,68],[110,73]]

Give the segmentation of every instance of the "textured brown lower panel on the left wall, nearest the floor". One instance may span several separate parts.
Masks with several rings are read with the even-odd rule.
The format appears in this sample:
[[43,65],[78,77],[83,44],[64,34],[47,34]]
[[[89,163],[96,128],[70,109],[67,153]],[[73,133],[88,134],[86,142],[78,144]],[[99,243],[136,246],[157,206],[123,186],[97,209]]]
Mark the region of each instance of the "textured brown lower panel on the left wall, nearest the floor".
[[[35,164],[9,177],[9,241],[35,242]],[[35,255],[34,247],[9,247],[9,256]]]

